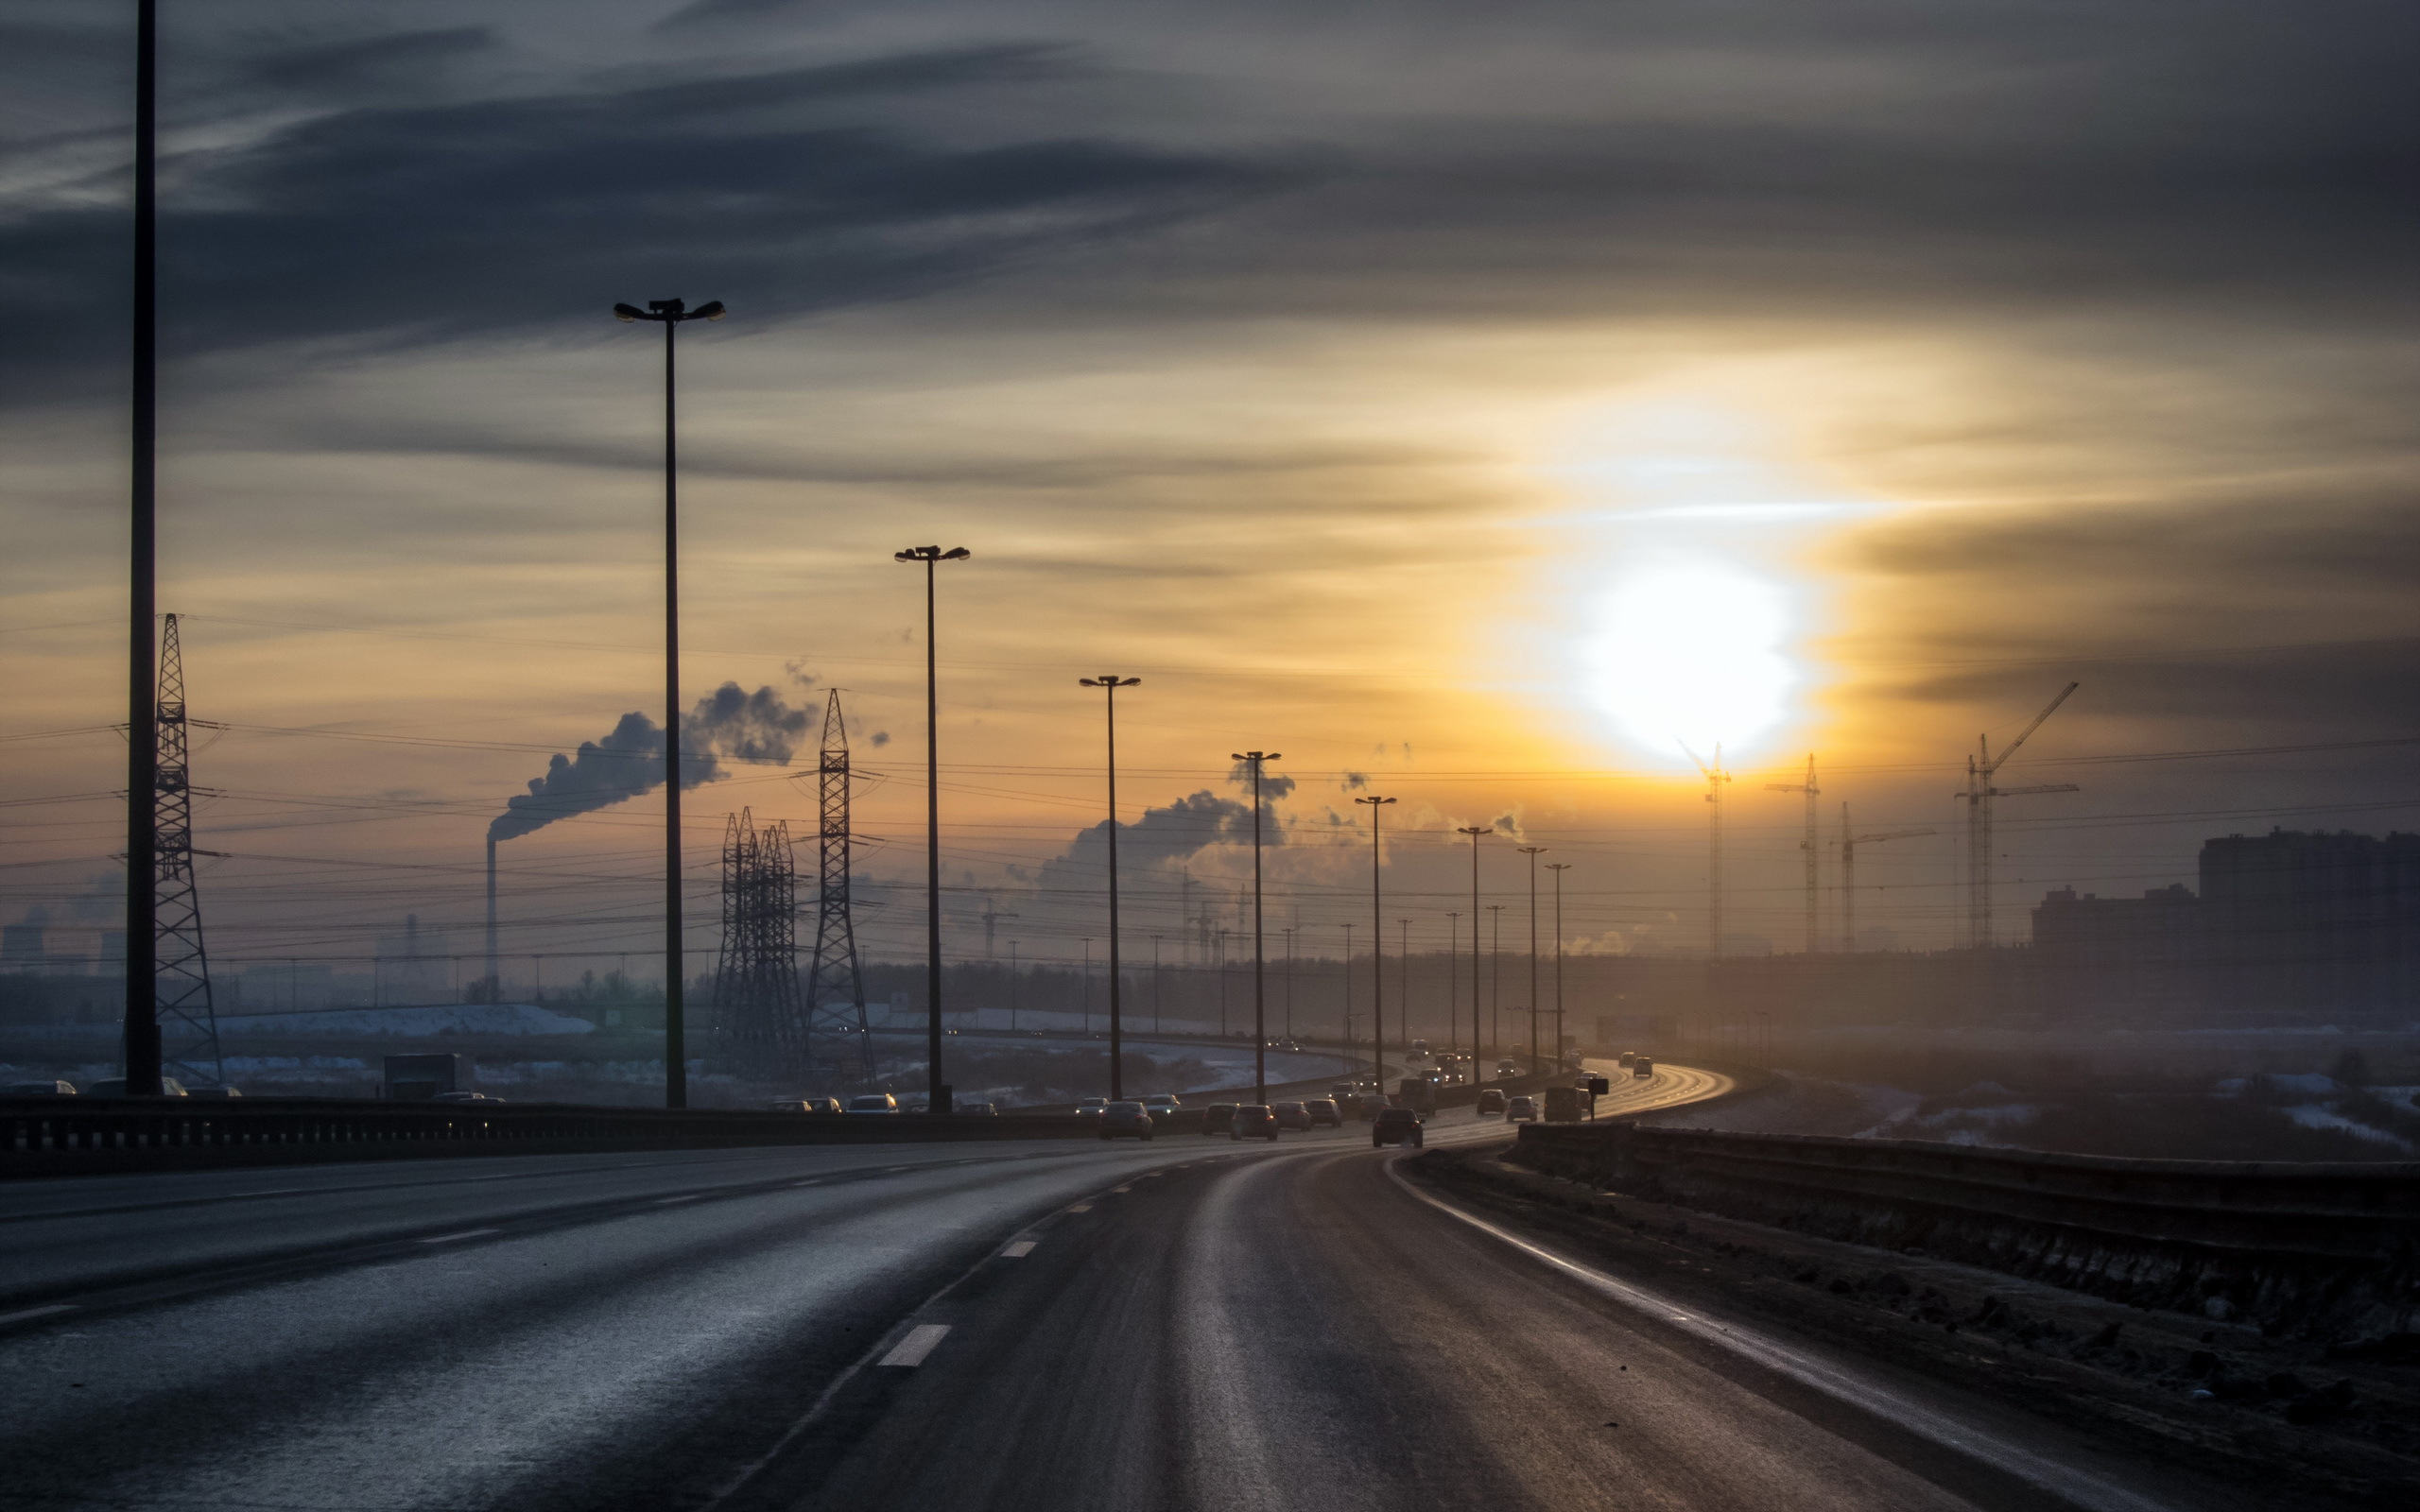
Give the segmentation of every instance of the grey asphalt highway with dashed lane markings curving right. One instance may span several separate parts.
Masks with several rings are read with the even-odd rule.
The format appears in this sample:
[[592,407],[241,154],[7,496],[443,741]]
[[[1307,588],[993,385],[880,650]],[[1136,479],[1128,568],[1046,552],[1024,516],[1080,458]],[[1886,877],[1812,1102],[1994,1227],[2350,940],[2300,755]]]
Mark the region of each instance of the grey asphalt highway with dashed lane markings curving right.
[[15,1183],[0,1507],[2222,1505],[1399,1159],[1348,1127]]

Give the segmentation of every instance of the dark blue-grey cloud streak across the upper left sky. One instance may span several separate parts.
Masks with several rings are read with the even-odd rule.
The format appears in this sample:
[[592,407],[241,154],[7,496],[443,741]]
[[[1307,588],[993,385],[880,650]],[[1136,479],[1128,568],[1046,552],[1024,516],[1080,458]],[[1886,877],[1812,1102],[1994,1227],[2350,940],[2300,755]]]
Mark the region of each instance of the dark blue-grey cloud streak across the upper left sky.
[[[283,53],[341,82],[474,48],[424,31]],[[1133,235],[1268,184],[1208,152],[1058,135],[941,145],[883,102],[1062,73],[1048,46],[900,53],[707,82],[336,111],[169,167],[162,322],[177,356],[264,341],[445,341],[595,324],[615,300],[721,298],[750,322],[891,300],[1045,247]],[[847,119],[852,109],[874,123]],[[106,363],[126,223],[0,225],[0,295],[48,319],[15,382]]]

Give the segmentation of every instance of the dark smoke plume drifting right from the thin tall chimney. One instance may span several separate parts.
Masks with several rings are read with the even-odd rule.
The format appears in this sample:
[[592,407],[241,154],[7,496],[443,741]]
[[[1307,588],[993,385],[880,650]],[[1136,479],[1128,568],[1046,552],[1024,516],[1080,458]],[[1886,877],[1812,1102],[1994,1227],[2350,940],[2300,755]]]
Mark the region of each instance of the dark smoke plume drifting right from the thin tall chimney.
[[[728,777],[724,762],[786,767],[806,738],[806,709],[791,709],[772,687],[741,692],[724,682],[697,699],[680,721],[680,786],[695,789]],[[489,839],[513,839],[544,830],[574,813],[595,813],[622,798],[663,786],[663,728],[646,714],[624,714],[603,740],[581,740],[576,755],[557,755],[528,793],[506,798],[486,827]]]

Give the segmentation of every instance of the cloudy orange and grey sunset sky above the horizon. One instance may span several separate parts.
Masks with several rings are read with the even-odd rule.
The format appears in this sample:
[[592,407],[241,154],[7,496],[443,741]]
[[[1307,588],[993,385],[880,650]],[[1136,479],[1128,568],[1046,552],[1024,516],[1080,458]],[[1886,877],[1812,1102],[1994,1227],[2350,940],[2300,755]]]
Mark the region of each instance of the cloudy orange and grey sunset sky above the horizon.
[[[131,10],[0,19],[0,917],[63,951],[119,888]],[[1104,929],[1096,673],[1169,939],[1249,876],[1241,750],[1321,948],[1358,796],[1416,943],[1488,825],[1488,900],[1542,844],[1575,948],[1704,948],[1716,748],[1735,948],[1803,943],[1808,752],[1825,844],[1936,830],[1859,856],[1873,943],[1953,943],[1965,757],[2067,682],[2001,939],[2420,806],[2403,5],[162,10],[160,605],[230,963],[469,924],[506,801],[661,723],[661,336],[607,310],[673,295],[731,307],[680,331],[685,702],[811,726],[702,748],[704,958],[835,687],[915,948],[927,542],[973,552],[958,953]],[[646,951],[661,813],[501,842],[506,951]]]

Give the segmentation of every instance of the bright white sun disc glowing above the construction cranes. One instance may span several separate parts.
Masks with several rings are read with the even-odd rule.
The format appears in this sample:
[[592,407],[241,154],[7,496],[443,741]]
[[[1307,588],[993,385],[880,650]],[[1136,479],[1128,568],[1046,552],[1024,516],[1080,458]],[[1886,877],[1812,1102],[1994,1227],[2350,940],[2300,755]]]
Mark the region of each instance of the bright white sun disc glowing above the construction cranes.
[[1738,752],[1791,714],[1788,639],[1788,588],[1713,556],[1667,556],[1597,605],[1592,689],[1646,752]]

